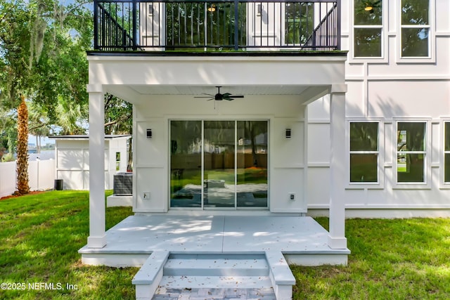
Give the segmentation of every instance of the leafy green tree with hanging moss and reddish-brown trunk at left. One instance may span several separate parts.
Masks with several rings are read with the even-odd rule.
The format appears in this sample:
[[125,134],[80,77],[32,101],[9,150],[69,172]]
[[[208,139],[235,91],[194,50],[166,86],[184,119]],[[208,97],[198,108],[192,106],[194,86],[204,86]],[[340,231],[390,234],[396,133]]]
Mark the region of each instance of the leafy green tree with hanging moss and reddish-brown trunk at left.
[[27,133],[25,98],[46,107],[51,120],[57,119],[60,98],[87,103],[91,13],[79,0],[66,6],[56,0],[0,0],[0,24],[0,101],[6,109],[20,105],[18,193],[27,193],[27,176],[19,174],[27,173],[27,147],[20,141]]

